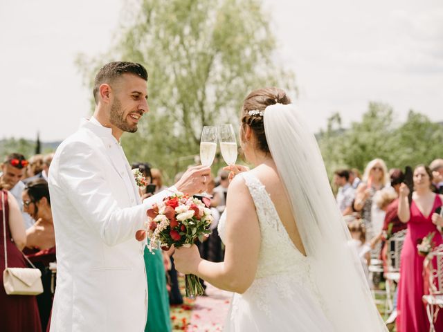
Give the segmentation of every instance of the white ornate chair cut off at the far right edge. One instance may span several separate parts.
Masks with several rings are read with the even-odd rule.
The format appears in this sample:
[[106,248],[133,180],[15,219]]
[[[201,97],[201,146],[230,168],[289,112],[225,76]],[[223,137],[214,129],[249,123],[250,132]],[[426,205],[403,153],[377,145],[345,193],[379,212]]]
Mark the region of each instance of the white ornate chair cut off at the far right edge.
[[[435,261],[435,266],[434,266]],[[443,308],[443,244],[431,251],[423,262],[424,284],[429,289],[428,295],[423,295],[426,313],[429,320],[429,331],[435,332],[434,322]]]

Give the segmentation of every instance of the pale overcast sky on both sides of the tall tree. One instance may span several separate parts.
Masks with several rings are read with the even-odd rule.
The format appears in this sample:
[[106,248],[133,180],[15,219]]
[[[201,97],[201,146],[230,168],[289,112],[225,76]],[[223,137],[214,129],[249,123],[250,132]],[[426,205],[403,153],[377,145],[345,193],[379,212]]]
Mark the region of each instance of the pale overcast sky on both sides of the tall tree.
[[[91,93],[75,57],[109,48],[127,1],[0,1],[0,139],[78,128]],[[398,122],[410,109],[443,121],[443,1],[264,0],[264,12],[312,131],[335,112],[345,127],[360,120],[370,101]]]

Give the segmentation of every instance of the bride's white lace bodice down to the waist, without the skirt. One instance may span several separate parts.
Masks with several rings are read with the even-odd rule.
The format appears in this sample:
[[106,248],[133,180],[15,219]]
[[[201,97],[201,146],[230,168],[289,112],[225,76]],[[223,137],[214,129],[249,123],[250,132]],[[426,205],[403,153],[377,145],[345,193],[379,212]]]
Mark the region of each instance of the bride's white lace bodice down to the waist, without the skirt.
[[[309,259],[293,245],[284,228],[266,188],[251,172],[239,174],[253,198],[260,223],[260,255],[255,279],[270,275],[308,275]],[[221,240],[225,237],[226,213],[221,215],[218,231]]]

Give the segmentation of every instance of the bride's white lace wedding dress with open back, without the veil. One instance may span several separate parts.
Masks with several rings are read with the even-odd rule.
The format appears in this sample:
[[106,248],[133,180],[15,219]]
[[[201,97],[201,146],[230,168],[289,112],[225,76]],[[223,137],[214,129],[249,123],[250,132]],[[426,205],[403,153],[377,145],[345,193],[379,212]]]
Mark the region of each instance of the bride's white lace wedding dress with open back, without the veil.
[[[334,331],[312,282],[310,259],[289,238],[266,188],[251,172],[239,174],[251,193],[261,230],[253,284],[233,295],[224,331]],[[224,241],[226,214],[218,230]]]

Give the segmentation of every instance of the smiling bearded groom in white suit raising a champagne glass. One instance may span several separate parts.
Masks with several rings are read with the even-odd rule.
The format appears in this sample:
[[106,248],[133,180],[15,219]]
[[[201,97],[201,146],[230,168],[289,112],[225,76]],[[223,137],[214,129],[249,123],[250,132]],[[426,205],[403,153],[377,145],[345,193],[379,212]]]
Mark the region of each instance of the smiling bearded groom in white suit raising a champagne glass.
[[174,187],[142,203],[120,137],[134,133],[149,111],[147,72],[132,62],[106,64],[93,95],[93,117],[62,142],[49,172],[57,247],[51,331],[139,332],[147,282],[145,242],[135,234],[153,203],[175,190],[206,190],[210,168],[191,167]]

